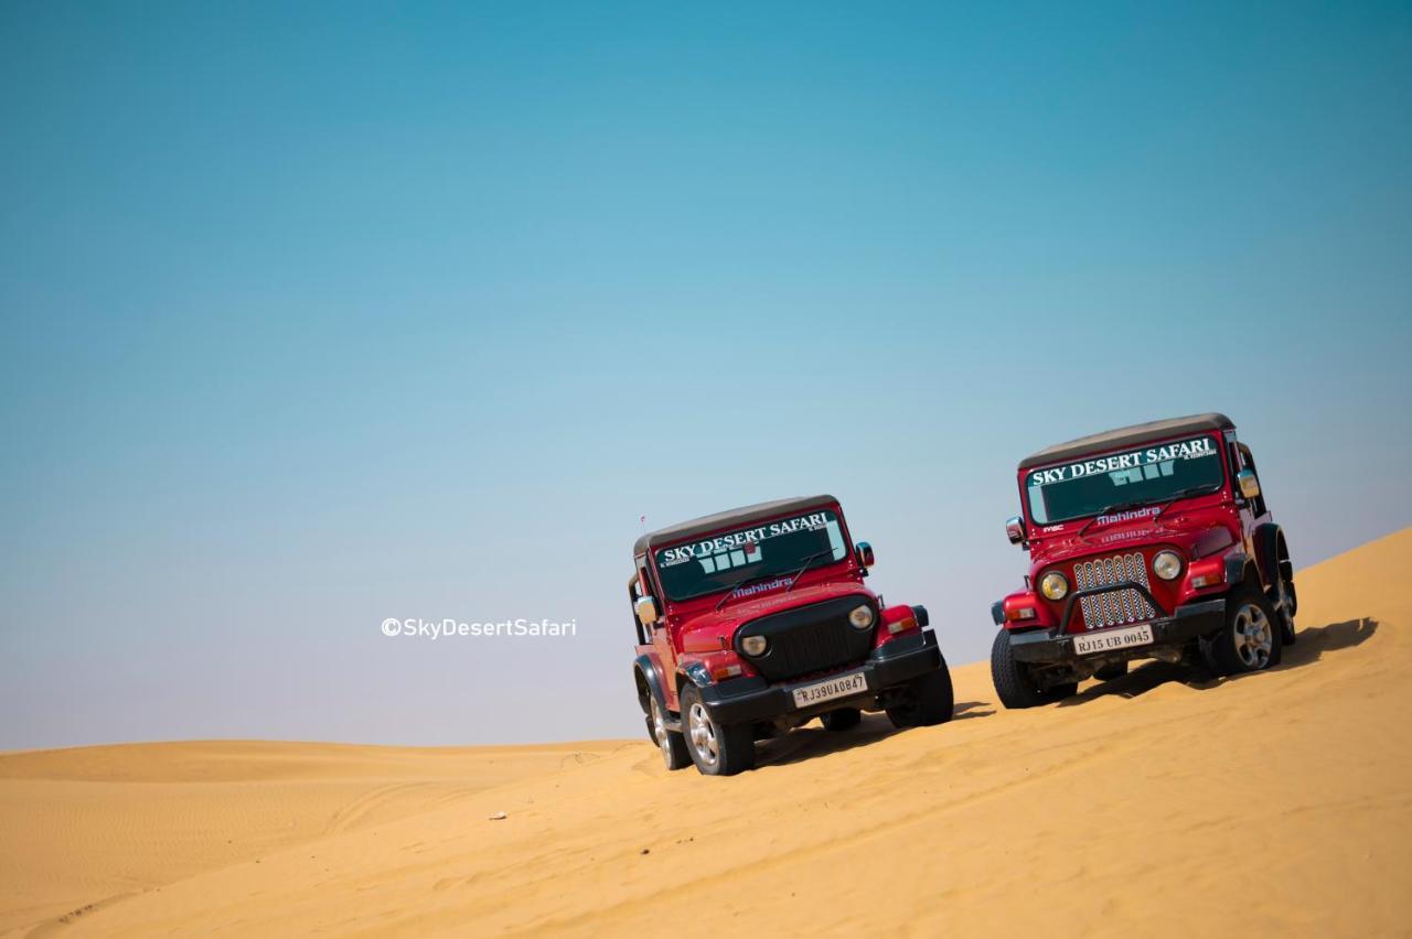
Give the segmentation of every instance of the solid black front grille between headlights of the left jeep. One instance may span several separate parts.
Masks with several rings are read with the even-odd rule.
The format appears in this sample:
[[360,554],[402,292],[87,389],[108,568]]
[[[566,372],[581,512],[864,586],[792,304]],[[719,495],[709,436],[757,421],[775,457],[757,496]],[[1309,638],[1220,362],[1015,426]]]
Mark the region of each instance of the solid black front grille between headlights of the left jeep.
[[[849,612],[860,603],[870,606],[874,615],[874,626],[864,630],[849,625]],[[770,681],[784,681],[863,661],[873,649],[875,625],[873,601],[860,595],[843,596],[746,623],[736,633],[736,651]],[[746,636],[768,639],[765,654],[746,656],[740,647]]]

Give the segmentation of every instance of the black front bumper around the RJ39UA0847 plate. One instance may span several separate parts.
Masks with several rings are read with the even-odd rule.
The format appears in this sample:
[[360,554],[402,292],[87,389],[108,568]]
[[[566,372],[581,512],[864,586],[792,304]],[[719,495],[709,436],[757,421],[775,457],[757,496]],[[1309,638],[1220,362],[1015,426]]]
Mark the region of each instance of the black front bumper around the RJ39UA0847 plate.
[[[912,636],[899,636],[873,650],[857,668],[843,668],[833,675],[816,675],[801,681],[771,685],[764,678],[731,678],[702,688],[702,704],[719,725],[753,723],[785,715],[812,715],[837,708],[871,704],[884,688],[892,688],[905,681],[925,675],[942,665],[942,653],[936,647],[936,636],[923,630]],[[818,684],[827,678],[863,671],[867,691],[849,698],[836,698],[822,705],[796,708],[794,689]]]

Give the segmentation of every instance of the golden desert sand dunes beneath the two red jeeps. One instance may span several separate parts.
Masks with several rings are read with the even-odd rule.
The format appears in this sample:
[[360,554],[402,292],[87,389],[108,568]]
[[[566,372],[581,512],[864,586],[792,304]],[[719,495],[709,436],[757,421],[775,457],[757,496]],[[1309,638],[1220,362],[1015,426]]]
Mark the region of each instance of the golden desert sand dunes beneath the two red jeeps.
[[966,665],[949,725],[730,780],[645,739],[0,754],[0,932],[1406,935],[1409,570],[1412,529],[1300,571],[1271,673],[1014,712]]

